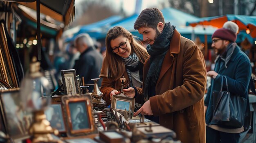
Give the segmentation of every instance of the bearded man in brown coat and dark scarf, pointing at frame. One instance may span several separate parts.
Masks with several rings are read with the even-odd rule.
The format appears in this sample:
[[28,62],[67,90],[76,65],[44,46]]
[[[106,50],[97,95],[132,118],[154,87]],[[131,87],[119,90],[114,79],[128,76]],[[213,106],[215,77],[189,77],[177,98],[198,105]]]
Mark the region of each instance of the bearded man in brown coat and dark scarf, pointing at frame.
[[143,103],[134,116],[144,114],[174,130],[182,143],[205,143],[206,67],[202,52],[175,26],[165,23],[158,9],[144,9],[134,28],[148,42],[150,55],[144,63],[143,92],[140,88],[124,90]]

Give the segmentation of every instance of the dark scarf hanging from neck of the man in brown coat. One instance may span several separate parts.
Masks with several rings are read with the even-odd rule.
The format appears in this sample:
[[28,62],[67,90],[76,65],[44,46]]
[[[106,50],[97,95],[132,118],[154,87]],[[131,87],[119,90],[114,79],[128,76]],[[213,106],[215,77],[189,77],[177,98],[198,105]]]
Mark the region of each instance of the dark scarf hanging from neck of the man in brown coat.
[[164,61],[164,56],[169,49],[175,26],[166,23],[162,33],[157,37],[153,45],[147,46],[150,55],[150,68],[146,77],[144,88],[144,102],[149,99],[151,87],[155,88]]

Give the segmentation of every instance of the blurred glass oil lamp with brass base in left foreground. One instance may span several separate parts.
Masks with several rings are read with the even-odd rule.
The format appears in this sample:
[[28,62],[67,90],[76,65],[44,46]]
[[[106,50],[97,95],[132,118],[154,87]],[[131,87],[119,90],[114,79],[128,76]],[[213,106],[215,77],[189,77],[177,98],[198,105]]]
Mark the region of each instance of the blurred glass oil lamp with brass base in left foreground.
[[29,129],[29,133],[33,136],[33,143],[61,143],[53,139],[51,134],[57,135],[58,130],[52,129],[44,113],[51,101],[50,97],[47,97],[50,95],[49,81],[39,70],[40,62],[37,62],[36,57],[33,57],[29,73],[26,74],[20,86],[20,96],[25,103],[25,109],[34,112],[34,123]]

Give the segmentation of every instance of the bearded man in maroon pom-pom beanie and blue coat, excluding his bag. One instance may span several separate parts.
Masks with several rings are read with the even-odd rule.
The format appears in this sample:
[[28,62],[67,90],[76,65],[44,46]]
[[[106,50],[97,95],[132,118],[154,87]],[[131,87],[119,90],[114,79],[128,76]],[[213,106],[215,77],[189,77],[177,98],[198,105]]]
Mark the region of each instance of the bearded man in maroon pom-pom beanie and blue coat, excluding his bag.
[[[205,122],[206,122],[206,142],[207,143],[238,143],[240,134],[247,130],[247,126],[241,128],[228,128],[212,122],[213,118],[213,91],[220,91],[221,81],[226,83],[230,96],[240,96],[248,100],[248,86],[252,74],[250,60],[236,44],[236,33],[238,26],[234,22],[226,22],[222,28],[216,30],[212,35],[211,47],[215,50],[215,68],[207,72],[207,76],[212,77],[211,86],[204,100]],[[223,91],[227,90],[223,84]],[[248,103],[248,102],[247,102]],[[239,105],[237,105],[239,106]],[[246,107],[245,107],[246,108]],[[244,111],[245,112],[245,111]]]

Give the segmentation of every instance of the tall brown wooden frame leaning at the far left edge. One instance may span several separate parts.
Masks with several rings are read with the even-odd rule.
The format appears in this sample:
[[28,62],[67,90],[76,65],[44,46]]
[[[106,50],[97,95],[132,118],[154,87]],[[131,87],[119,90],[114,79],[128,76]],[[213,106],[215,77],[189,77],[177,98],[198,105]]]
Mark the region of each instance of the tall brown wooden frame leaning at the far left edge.
[[7,37],[4,30],[4,23],[0,23],[0,66],[1,78],[6,81],[12,88],[18,88],[18,81],[13,66],[12,58],[7,45]]

